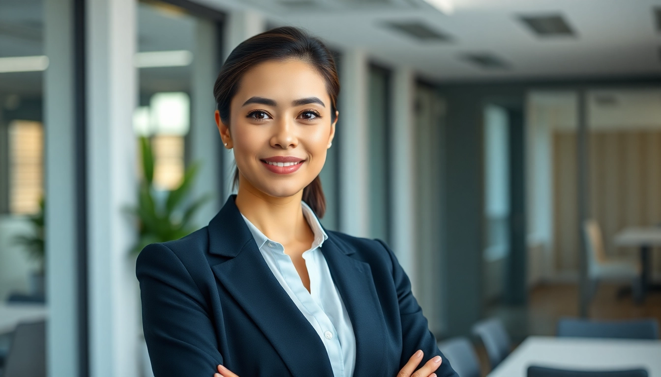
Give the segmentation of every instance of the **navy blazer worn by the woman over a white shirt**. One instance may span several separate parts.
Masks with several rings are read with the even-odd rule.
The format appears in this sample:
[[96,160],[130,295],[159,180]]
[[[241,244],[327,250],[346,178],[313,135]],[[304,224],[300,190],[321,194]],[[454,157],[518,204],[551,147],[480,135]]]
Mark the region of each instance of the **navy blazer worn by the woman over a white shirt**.
[[[332,377],[319,335],[266,265],[227,199],[208,226],[139,254],[142,318],[156,377]],[[356,335],[356,377],[395,377],[422,349],[441,355],[395,255],[379,240],[325,230],[321,248]],[[457,376],[442,361],[439,377]]]

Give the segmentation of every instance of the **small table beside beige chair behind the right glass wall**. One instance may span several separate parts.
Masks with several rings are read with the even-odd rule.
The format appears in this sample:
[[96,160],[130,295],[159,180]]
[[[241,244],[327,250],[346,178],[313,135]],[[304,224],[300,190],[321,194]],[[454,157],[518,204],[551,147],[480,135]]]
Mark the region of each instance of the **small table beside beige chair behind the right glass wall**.
[[661,227],[632,226],[630,228],[625,228],[621,232],[615,234],[613,243],[615,246],[633,246],[639,248],[641,254],[643,294],[645,291],[660,291],[660,285],[650,284],[650,276],[652,275],[652,258],[650,254],[653,247],[661,247]]

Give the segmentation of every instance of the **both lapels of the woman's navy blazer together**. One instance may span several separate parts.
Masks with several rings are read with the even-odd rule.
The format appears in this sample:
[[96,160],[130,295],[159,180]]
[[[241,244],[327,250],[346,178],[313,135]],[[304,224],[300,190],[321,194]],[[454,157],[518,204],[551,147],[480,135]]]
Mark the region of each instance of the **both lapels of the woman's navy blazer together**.
[[[231,258],[212,266],[215,277],[260,327],[293,376],[332,377],[319,335],[266,265],[234,199],[229,197],[209,223],[209,252]],[[379,360],[388,330],[371,268],[350,257],[356,252],[352,246],[328,233],[321,250],[354,328],[354,376],[385,376],[385,364]]]

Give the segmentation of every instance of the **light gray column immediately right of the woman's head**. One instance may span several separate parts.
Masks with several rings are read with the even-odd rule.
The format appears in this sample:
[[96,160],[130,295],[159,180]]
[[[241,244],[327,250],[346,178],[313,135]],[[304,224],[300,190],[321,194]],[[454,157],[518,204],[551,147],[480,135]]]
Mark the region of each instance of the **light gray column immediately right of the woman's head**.
[[361,50],[342,54],[340,64],[340,230],[369,235],[368,60]]

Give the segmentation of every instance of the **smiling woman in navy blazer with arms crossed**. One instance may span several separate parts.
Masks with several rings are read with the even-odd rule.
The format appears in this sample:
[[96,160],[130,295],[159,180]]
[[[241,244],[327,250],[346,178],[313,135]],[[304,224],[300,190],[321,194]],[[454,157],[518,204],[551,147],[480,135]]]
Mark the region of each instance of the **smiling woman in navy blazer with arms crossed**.
[[225,61],[215,121],[238,193],[137,259],[157,377],[456,376],[388,246],[319,224],[339,90],[331,53],[297,28]]

